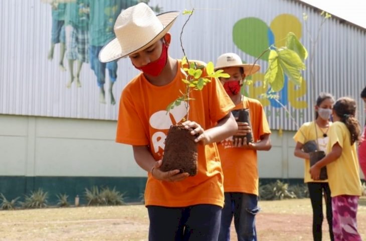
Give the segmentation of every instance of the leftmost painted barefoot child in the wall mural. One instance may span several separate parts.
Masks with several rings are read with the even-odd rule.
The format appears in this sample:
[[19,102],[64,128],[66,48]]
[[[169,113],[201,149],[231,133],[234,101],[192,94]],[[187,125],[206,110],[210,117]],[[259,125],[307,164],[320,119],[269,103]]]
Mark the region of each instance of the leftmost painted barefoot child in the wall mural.
[[64,67],[65,56],[65,9],[66,4],[50,2],[52,8],[52,33],[51,48],[48,51],[48,59],[53,59],[53,53],[56,44],[60,44],[60,60],[59,66],[62,71],[66,71]]

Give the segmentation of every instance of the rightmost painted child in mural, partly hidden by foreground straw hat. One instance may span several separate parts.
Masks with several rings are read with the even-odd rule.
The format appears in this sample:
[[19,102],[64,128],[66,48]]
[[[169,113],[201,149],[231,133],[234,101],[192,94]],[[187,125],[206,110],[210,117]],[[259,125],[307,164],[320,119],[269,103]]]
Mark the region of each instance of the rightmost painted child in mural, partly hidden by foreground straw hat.
[[98,59],[99,52],[104,45],[115,38],[113,27],[121,10],[136,4],[136,0],[89,0],[90,68],[97,77],[100,103],[106,103],[104,90],[106,68],[109,72],[110,103],[113,105],[116,103],[113,95],[113,84],[117,79],[117,61],[102,63]]

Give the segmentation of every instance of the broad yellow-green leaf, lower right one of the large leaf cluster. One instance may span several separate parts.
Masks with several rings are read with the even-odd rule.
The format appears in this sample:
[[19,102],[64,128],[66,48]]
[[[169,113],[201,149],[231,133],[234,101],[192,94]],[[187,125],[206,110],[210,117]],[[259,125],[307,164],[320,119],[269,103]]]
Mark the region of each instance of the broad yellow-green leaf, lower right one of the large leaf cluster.
[[301,61],[300,56],[295,51],[285,48],[278,49],[277,54],[283,72],[296,85],[301,84],[301,71],[305,69],[305,64]]

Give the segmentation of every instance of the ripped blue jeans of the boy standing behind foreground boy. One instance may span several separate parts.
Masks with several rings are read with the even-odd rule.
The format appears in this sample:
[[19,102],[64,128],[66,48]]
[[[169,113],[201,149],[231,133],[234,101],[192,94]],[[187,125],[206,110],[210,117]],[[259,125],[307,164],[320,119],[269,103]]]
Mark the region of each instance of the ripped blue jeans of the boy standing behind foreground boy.
[[238,241],[257,241],[255,215],[260,210],[257,205],[257,195],[242,192],[225,192],[219,241],[230,241],[230,225],[233,216]]

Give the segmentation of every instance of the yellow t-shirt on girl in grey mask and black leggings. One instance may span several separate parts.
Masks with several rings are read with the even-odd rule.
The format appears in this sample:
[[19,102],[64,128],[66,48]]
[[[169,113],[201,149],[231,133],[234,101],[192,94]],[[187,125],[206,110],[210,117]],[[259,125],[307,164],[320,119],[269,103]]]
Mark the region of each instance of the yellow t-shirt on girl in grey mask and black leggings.
[[[332,125],[332,123],[329,123],[329,128]],[[316,131],[315,131],[316,128]],[[320,151],[324,151],[327,153],[327,144],[329,141],[329,137],[323,137],[323,133],[327,131],[327,128],[319,128],[318,125],[315,124],[315,122],[307,122],[304,123],[300,129],[296,132],[293,139],[295,142],[299,142],[301,144],[305,144],[308,141],[312,141],[315,139],[318,140],[318,145]],[[316,136],[317,134],[317,136]],[[328,133],[327,133],[328,135]],[[310,176],[309,170],[310,170],[310,160],[305,159],[304,163],[304,182],[327,182],[328,180],[313,180]]]

